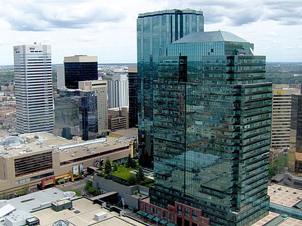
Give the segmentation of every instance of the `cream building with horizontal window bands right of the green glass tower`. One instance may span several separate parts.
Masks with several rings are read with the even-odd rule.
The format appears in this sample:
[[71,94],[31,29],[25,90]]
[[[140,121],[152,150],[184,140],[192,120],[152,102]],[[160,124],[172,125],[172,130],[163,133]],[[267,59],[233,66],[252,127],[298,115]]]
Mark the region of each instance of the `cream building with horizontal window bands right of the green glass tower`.
[[292,94],[299,92],[299,89],[290,88],[288,84],[272,84],[272,135],[270,147],[290,147]]

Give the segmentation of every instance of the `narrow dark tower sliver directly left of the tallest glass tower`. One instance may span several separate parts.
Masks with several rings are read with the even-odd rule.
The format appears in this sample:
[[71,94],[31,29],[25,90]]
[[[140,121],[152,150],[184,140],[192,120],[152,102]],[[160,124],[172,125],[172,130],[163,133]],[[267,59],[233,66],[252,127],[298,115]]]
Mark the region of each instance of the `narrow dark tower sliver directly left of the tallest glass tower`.
[[129,127],[137,126],[137,65],[128,67]]

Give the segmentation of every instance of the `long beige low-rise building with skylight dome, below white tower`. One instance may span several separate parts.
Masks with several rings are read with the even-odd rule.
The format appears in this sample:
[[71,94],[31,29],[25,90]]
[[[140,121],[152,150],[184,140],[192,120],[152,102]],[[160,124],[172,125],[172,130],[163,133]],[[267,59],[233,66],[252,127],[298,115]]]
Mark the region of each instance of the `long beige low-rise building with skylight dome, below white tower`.
[[0,146],[0,199],[81,178],[104,159],[126,161],[132,142],[115,137],[78,141],[49,133],[4,137]]

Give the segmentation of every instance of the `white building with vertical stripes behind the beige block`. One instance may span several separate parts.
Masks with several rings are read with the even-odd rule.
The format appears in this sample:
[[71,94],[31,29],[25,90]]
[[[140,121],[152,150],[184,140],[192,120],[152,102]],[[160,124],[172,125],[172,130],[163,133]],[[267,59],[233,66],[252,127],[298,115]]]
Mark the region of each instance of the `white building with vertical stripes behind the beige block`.
[[128,77],[126,74],[113,76],[108,80],[108,109],[129,106]]

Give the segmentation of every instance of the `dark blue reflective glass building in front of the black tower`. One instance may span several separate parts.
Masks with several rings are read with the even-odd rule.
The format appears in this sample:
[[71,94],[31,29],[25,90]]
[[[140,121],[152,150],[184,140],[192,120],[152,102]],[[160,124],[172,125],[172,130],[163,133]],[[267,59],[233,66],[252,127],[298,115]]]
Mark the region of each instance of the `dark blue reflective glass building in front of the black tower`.
[[54,96],[54,135],[95,139],[98,135],[97,97],[94,91],[59,89]]

